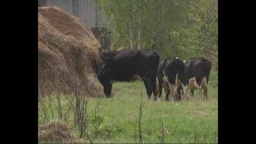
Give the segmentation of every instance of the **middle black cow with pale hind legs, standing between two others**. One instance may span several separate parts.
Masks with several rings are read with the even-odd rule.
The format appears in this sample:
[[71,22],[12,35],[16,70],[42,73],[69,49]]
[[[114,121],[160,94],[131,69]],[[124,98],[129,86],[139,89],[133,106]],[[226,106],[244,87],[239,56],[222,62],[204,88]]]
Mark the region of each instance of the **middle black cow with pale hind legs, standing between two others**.
[[166,94],[166,101],[169,101],[170,91],[172,101],[181,99],[180,85],[182,87],[186,86],[184,68],[184,62],[178,58],[166,58],[159,63],[157,72],[159,99],[162,97],[162,88]]

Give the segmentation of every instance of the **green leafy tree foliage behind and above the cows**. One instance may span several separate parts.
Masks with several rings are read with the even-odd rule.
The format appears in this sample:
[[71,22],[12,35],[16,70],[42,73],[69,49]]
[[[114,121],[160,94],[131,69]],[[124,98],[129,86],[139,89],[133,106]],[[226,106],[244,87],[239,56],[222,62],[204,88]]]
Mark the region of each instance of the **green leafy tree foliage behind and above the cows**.
[[[114,50],[129,46],[132,19],[133,45],[151,47],[152,26],[156,24],[156,51],[161,58],[187,59],[203,56],[217,68],[218,12],[216,0],[96,0],[108,18]],[[141,21],[139,23],[139,19]]]

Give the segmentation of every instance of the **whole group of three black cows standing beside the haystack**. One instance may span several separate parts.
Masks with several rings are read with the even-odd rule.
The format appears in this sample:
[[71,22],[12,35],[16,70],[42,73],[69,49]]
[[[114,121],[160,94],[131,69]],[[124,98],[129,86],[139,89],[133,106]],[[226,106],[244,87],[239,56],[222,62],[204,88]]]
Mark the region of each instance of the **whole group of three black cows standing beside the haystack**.
[[[211,62],[205,58],[191,58],[181,61],[178,58],[166,58],[160,61],[158,53],[152,50],[103,51],[102,63],[93,62],[92,68],[103,85],[104,94],[110,97],[112,84],[116,82],[134,82],[141,80],[147,90],[147,99],[152,92],[154,101],[189,100],[189,92],[194,97],[194,90],[199,90],[201,99],[208,98],[207,84],[211,70]],[[169,98],[170,95],[170,98]]]

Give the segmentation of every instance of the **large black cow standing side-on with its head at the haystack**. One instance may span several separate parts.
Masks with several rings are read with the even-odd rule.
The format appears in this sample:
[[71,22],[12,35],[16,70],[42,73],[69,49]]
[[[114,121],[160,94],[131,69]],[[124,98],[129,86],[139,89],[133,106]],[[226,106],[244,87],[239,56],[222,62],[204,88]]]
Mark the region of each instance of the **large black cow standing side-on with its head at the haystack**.
[[103,63],[98,63],[92,68],[103,85],[107,98],[110,96],[113,83],[141,80],[147,90],[147,99],[150,99],[153,92],[156,100],[156,76],[160,61],[158,53],[138,49],[101,51],[101,53]]

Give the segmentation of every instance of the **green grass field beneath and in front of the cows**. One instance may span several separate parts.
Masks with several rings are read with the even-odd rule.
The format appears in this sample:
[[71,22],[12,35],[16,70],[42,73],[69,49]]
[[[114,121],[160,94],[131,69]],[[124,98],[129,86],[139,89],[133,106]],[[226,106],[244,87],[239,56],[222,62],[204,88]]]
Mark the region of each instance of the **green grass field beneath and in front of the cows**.
[[[87,136],[93,143],[139,143],[139,119],[141,110],[141,136],[143,143],[161,143],[164,127],[164,143],[218,143],[218,73],[209,78],[206,102],[199,101],[198,91],[192,102],[153,102],[153,96],[146,99],[144,83],[114,83],[114,97],[110,99],[88,99],[86,113]],[[51,101],[51,102],[50,102]],[[69,111],[70,97],[60,97],[59,107],[56,97],[45,98],[47,114],[42,114],[39,103],[39,123],[58,119]],[[50,107],[50,104],[52,108]],[[65,116],[70,127],[74,125],[74,113]],[[46,116],[47,115],[47,116]],[[62,116],[63,118],[64,116]],[[64,119],[64,118],[63,118]],[[163,125],[162,125],[163,121]],[[39,125],[40,125],[39,124]],[[78,126],[74,126],[75,136],[79,136]],[[43,143],[43,142],[41,142]]]

